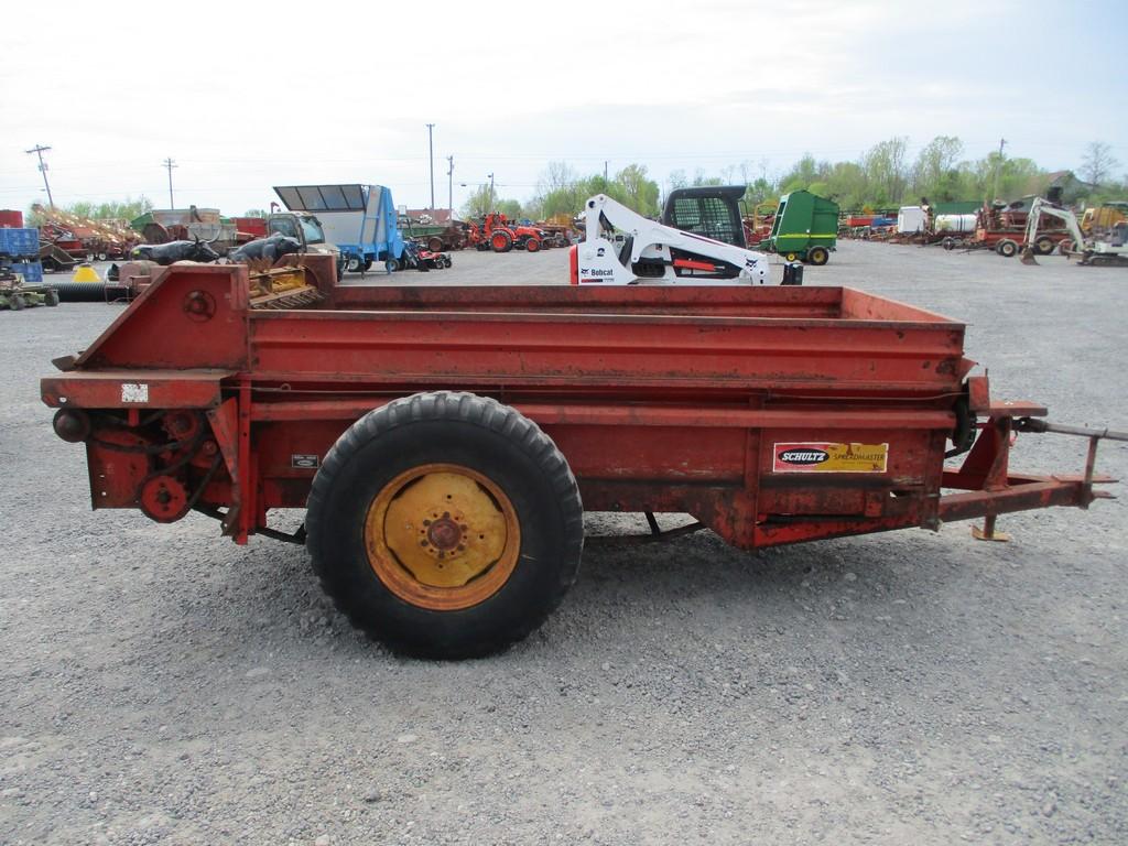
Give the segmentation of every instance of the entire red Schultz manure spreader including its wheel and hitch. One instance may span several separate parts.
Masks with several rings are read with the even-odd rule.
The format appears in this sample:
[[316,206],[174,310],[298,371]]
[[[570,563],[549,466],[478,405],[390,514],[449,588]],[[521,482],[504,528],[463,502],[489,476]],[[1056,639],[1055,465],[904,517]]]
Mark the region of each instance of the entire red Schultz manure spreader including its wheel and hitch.
[[[972,518],[992,537],[999,514],[1086,508],[1100,439],[1128,437],[995,399],[962,324],[848,288],[337,287],[301,261],[309,284],[274,292],[243,266],[164,270],[43,399],[94,508],[305,544],[353,624],[412,654],[538,626],[585,510],[655,537],[654,513],[691,514],[670,534],[742,549]],[[1086,437],[1087,466],[1014,472],[1015,431]]]

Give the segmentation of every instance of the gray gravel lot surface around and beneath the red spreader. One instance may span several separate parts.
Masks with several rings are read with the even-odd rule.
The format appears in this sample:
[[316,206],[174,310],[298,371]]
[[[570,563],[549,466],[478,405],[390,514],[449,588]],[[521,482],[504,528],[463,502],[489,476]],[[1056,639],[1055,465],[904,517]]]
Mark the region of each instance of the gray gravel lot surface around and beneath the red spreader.
[[[807,281],[966,319],[996,395],[1128,428],[1128,271],[1041,262],[845,243]],[[441,279],[565,268],[464,253]],[[118,312],[0,312],[0,843],[1128,841],[1123,501],[1006,518],[1011,544],[592,545],[506,654],[404,660],[300,548],[88,510],[37,377]],[[1013,464],[1083,449],[1024,435]]]

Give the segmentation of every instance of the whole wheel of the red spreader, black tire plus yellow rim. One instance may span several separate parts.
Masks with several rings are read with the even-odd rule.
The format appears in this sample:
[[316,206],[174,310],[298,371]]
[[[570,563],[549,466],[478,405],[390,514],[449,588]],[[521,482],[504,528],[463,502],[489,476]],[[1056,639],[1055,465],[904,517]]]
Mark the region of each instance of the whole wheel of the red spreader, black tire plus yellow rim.
[[321,587],[354,626],[417,656],[520,641],[561,603],[583,550],[564,456],[520,412],[474,394],[369,412],[329,449],[308,508]]

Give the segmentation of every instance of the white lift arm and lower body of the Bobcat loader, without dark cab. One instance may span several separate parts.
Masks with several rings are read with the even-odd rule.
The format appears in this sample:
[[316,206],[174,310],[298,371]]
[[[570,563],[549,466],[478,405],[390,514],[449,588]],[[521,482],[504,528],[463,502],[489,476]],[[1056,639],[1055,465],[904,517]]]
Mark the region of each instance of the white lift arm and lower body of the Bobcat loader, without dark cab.
[[603,194],[588,200],[583,213],[584,238],[571,252],[572,284],[764,285],[772,281],[765,254],[664,226]]

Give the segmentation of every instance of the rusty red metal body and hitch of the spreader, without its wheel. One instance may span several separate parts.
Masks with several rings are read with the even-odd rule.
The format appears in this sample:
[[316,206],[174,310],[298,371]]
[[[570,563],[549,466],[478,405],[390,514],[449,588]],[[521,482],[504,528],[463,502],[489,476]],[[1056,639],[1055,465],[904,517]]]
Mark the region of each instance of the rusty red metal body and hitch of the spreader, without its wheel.
[[[293,456],[324,456],[353,421],[420,390],[513,405],[561,447],[589,510],[688,512],[743,548],[976,517],[993,535],[998,514],[1085,508],[1100,495],[1096,443],[1117,434],[1084,431],[1083,477],[1012,473],[1016,429],[1065,429],[1037,420],[1037,405],[993,403],[986,377],[966,378],[962,324],[851,289],[318,279],[318,308],[256,312],[245,270],[170,268],[68,372],[43,380],[44,402],[120,409],[122,385],[143,381],[152,402],[129,404],[134,425],[139,411],[206,412],[222,472],[201,510],[240,544],[270,534],[270,509],[305,505],[316,466]],[[958,407],[985,422],[949,469]],[[889,467],[773,472],[774,443],[826,439],[884,443]],[[88,451],[91,466],[124,460]],[[120,488],[106,504],[131,506]]]

